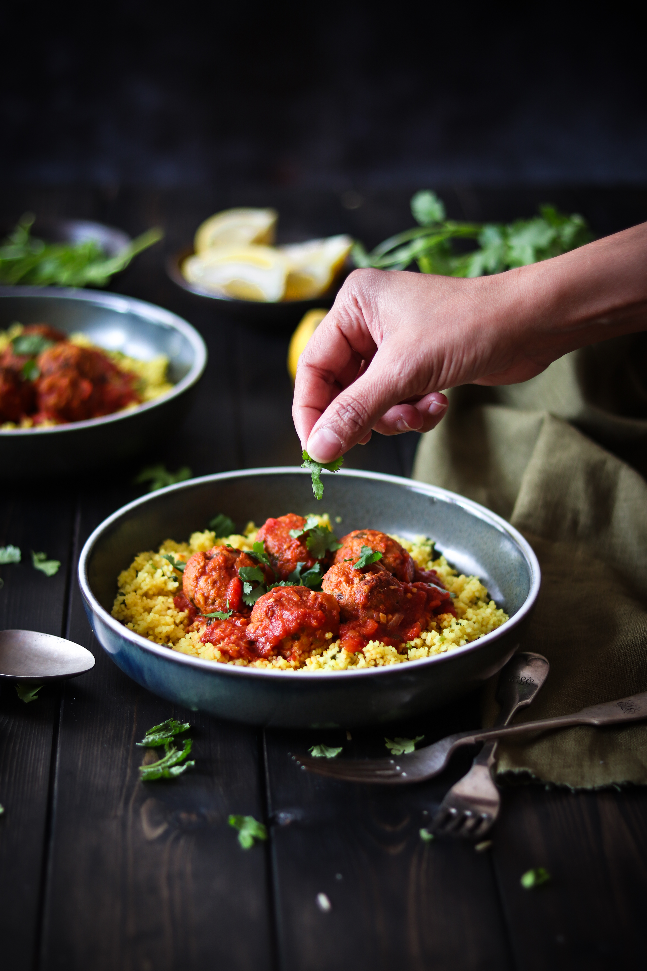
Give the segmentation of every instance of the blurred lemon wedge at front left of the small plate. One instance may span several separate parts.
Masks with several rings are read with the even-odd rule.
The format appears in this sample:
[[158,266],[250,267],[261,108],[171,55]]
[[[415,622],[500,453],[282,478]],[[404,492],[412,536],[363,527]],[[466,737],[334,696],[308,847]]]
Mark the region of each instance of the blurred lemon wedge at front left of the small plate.
[[208,250],[182,263],[190,284],[236,300],[282,300],[287,273],[285,256],[267,246]]

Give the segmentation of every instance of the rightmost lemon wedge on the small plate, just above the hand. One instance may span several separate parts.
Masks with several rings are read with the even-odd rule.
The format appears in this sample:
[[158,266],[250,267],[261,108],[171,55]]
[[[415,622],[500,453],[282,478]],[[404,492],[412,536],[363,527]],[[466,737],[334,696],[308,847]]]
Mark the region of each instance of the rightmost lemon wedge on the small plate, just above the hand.
[[285,300],[312,300],[321,296],[339,273],[353,241],[350,236],[330,236],[278,247],[286,257],[289,275]]

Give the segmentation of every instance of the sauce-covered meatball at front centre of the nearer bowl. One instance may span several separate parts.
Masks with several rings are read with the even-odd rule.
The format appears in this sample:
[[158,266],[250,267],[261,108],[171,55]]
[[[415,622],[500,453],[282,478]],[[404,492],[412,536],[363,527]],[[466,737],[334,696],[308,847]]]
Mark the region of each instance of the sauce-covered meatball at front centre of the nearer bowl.
[[247,635],[261,656],[280,653],[297,660],[329,644],[339,627],[340,608],[329,593],[307,586],[275,586],[254,604]]

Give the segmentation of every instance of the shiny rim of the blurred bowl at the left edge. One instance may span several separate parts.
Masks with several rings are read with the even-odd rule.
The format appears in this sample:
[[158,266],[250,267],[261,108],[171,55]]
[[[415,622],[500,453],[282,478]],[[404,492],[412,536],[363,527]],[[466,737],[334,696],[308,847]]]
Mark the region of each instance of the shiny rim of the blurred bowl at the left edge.
[[173,398],[177,398],[178,395],[183,394],[189,387],[195,385],[196,382],[202,377],[202,374],[207,366],[207,345],[203,341],[202,337],[190,323],[178,317],[176,314],[172,314],[171,311],[164,310],[163,307],[158,307],[156,304],[147,303],[145,300],[137,300],[134,297],[121,296],[118,293],[88,293],[86,290],[74,289],[71,287],[58,287],[58,286],[0,286],[0,299],[3,296],[12,297],[53,297],[65,298],[68,300],[79,300],[81,303],[92,303],[105,307],[107,310],[113,310],[118,314],[127,314],[129,312],[134,312],[140,317],[144,317],[151,323],[164,323],[167,326],[172,327],[177,330],[182,337],[191,345],[194,352],[193,364],[189,368],[187,374],[184,375],[178,381],[177,385],[173,386],[173,390],[168,391],[166,394],[161,395],[159,398],[154,398],[152,401],[146,401],[142,405],[138,405],[137,408],[131,409],[129,411],[115,412],[113,415],[104,415],[98,419],[86,419],[84,421],[71,421],[69,424],[53,425],[50,428],[7,428],[0,429],[0,436],[12,435],[12,436],[39,436],[39,435],[61,435],[71,434],[77,431],[79,428],[94,428],[97,425],[110,424],[113,421],[125,421],[132,418],[134,415],[140,415],[142,412],[150,411],[162,402],[171,401]]

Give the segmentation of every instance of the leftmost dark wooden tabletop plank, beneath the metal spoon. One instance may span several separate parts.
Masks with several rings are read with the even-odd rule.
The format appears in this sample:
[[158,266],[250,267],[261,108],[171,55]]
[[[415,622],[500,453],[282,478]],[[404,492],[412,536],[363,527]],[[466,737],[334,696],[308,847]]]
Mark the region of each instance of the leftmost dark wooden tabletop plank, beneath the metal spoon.
[[[62,634],[69,582],[73,497],[55,486],[3,488],[0,546],[20,548],[20,563],[0,567],[0,629]],[[53,577],[35,570],[31,551],[47,552],[61,567]],[[43,854],[48,826],[52,741],[60,688],[41,688],[24,703],[12,684],[0,687],[0,936],[6,967],[33,965],[41,904]]]

